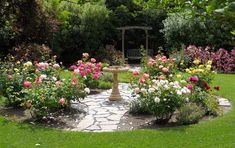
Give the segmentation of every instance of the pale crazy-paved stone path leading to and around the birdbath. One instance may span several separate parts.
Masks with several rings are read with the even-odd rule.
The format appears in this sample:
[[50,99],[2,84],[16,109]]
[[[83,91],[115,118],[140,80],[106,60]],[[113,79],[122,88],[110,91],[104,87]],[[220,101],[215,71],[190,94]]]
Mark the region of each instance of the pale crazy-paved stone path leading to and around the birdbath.
[[119,84],[119,90],[123,97],[122,101],[109,101],[111,90],[98,95],[89,95],[82,100],[81,102],[88,107],[87,114],[74,130],[92,132],[116,130],[121,117],[128,111],[128,102],[131,101],[128,84]]

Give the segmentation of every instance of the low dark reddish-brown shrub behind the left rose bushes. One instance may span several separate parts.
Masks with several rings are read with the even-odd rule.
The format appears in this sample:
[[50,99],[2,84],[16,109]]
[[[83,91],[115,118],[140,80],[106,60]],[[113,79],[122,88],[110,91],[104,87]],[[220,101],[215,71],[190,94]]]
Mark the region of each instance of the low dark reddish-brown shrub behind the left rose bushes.
[[29,43],[14,47],[10,52],[17,60],[41,61],[50,59],[52,51],[44,44],[38,45],[35,43]]

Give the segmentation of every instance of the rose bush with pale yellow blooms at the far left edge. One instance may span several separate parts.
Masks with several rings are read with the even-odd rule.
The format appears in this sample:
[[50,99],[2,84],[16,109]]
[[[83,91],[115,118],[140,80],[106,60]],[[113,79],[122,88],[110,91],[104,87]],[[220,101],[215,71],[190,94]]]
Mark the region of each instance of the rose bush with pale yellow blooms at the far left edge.
[[[34,79],[35,67],[32,62],[23,63],[16,61],[13,56],[8,56],[0,62],[0,90],[6,98],[7,106],[19,106],[24,94],[21,92],[26,78]],[[27,82],[25,85],[29,86]]]

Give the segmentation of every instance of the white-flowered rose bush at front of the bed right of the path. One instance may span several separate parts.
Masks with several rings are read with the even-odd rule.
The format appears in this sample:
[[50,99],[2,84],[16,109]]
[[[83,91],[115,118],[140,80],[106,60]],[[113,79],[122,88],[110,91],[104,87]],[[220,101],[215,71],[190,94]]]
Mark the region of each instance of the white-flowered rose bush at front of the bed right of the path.
[[[146,83],[147,84],[147,83]],[[159,123],[166,123],[191,92],[179,81],[151,80],[148,85],[134,88],[136,102],[140,108],[157,117]]]

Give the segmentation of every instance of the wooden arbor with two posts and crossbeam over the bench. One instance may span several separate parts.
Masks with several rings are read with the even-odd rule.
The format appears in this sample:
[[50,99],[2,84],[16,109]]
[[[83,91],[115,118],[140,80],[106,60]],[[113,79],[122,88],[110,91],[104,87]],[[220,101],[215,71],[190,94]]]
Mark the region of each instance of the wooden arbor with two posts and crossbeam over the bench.
[[147,26],[125,26],[125,27],[119,27],[117,28],[118,30],[122,30],[122,57],[125,59],[125,32],[126,30],[131,30],[131,29],[141,29],[145,30],[146,34],[146,41],[145,41],[145,48],[148,53],[148,31],[152,30],[152,27],[147,27]]

